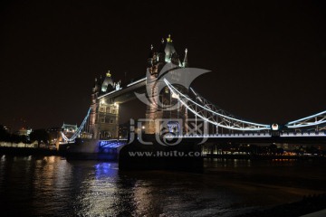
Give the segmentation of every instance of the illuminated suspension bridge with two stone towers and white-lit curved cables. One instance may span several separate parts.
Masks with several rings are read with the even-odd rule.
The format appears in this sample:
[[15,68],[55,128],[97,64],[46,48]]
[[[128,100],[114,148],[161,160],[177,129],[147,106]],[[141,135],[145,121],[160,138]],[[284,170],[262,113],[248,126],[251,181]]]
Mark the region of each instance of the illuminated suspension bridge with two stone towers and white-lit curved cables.
[[[86,131],[103,141],[103,146],[110,146],[110,141],[114,146],[125,144],[116,142],[119,105],[140,99],[147,104],[143,119],[146,135],[188,141],[326,141],[326,110],[279,125],[254,123],[220,109],[190,87],[192,80],[207,71],[190,68],[187,55],[186,50],[180,61],[168,36],[157,51],[151,47],[143,78],[121,84],[109,71],[104,78],[95,79],[91,108],[75,135],[66,139],[72,141]],[[134,131],[135,126],[130,127],[129,133]]]

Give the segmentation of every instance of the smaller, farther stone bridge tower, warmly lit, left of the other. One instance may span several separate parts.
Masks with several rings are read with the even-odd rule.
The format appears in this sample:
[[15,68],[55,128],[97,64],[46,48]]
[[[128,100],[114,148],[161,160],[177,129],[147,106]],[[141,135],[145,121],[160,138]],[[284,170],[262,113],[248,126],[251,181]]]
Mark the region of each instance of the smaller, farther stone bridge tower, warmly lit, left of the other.
[[112,99],[101,98],[110,90],[119,90],[120,82],[114,83],[110,71],[105,78],[95,79],[91,93],[91,114],[89,128],[95,139],[118,138],[119,105]]

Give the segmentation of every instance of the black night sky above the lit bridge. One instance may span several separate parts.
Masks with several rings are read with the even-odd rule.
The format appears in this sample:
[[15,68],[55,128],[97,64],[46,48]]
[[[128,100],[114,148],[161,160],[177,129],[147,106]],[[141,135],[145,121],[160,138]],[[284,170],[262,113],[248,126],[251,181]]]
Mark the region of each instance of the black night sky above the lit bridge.
[[[266,124],[309,116],[326,109],[325,11],[322,1],[2,1],[0,124],[79,125],[94,78],[145,75],[150,44],[169,33],[191,67],[212,71],[193,87],[219,107]],[[144,116],[132,103],[122,119]]]

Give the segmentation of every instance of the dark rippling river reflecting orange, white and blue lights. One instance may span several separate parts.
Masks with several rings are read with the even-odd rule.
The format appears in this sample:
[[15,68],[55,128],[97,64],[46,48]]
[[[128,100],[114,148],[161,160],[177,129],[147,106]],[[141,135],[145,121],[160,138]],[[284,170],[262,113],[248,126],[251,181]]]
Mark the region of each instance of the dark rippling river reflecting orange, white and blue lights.
[[204,174],[0,155],[1,216],[236,216],[326,191],[326,165],[206,160]]

